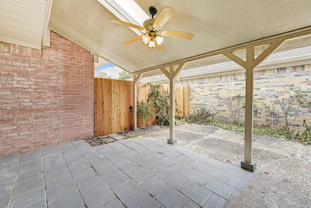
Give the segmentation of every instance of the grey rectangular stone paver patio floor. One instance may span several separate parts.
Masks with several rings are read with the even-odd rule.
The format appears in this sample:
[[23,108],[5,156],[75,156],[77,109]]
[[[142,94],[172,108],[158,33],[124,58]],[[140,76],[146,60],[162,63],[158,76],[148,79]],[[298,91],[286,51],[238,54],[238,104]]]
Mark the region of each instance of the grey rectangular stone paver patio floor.
[[0,157],[0,207],[222,208],[253,173],[150,137]]

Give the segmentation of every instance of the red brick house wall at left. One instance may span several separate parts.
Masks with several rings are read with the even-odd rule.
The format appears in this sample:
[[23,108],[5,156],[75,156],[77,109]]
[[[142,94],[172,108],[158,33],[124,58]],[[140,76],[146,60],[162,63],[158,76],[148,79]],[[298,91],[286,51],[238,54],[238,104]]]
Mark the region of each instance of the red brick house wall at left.
[[0,42],[0,154],[94,134],[93,56],[51,32],[42,50]]

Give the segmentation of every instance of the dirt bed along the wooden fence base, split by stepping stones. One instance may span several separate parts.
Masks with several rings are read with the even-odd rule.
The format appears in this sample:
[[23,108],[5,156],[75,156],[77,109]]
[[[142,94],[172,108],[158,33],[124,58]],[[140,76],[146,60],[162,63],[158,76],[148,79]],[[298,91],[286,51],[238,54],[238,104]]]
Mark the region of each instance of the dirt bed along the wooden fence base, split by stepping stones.
[[[141,127],[136,130],[131,129],[124,132],[118,132],[119,135],[124,136],[125,139],[136,137],[139,135],[144,135],[146,133],[150,132],[157,132],[163,129],[168,129],[168,127],[161,127],[159,125],[153,125],[148,127]],[[96,147],[103,144],[108,144],[110,142],[115,142],[116,140],[112,138],[111,136],[104,135],[104,136],[98,136],[98,137],[92,137],[92,138],[86,138],[84,139],[90,146]]]

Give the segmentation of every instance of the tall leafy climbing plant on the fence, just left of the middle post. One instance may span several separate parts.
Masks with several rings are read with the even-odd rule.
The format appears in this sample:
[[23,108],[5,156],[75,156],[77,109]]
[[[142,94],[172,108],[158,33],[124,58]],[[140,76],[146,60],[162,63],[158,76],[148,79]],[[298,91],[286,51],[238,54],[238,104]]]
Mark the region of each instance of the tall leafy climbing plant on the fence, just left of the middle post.
[[150,86],[150,93],[148,95],[148,102],[152,106],[154,106],[156,110],[155,119],[157,121],[157,124],[161,126],[167,126],[170,125],[170,105],[169,105],[169,99],[170,94],[167,90],[163,90],[161,93],[160,84],[152,84],[149,83]]

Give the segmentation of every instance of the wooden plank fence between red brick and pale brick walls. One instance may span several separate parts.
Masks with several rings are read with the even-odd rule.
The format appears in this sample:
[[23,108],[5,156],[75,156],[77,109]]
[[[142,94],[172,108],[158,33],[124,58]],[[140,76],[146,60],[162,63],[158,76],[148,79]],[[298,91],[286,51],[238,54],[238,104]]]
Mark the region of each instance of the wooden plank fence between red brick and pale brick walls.
[[[169,90],[170,86],[162,84],[161,89]],[[150,87],[147,83],[137,84],[138,101],[148,100]],[[95,136],[122,132],[134,127],[133,81],[94,78],[95,96]],[[175,86],[175,115],[189,115],[189,86]],[[155,124],[155,116],[151,124]],[[138,122],[139,126],[139,122]]]

